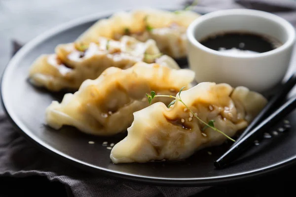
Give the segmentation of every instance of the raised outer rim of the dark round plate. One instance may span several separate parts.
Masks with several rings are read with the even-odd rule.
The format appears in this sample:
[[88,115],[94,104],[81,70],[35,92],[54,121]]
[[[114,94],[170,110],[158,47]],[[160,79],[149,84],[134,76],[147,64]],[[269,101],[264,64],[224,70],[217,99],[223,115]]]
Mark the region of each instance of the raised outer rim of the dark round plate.
[[[131,10],[131,9],[141,9],[141,7],[124,9],[124,10]],[[155,9],[168,9],[168,8],[155,7]],[[261,167],[255,170],[249,170],[243,173],[215,176],[210,178],[202,178],[202,177],[200,178],[161,178],[161,177],[151,177],[151,176],[149,177],[149,176],[131,174],[126,172],[118,172],[116,170],[95,166],[93,164],[88,164],[86,162],[80,161],[78,159],[75,159],[69,155],[62,153],[61,151],[55,149],[54,147],[42,142],[42,140],[38,139],[37,136],[34,136],[34,133],[32,133],[28,128],[26,128],[26,126],[22,123],[22,121],[17,118],[13,110],[10,109],[9,105],[5,104],[5,102],[7,103],[6,101],[7,98],[5,97],[5,92],[6,92],[5,89],[9,87],[9,85],[7,85],[5,81],[8,80],[6,78],[9,75],[9,73],[11,73],[10,70],[14,67],[17,67],[19,61],[22,58],[24,58],[26,54],[28,54],[37,44],[48,39],[49,37],[57,35],[75,26],[79,26],[88,22],[96,22],[99,19],[106,18],[108,16],[111,16],[111,14],[117,11],[122,11],[122,10],[123,9],[104,11],[104,12],[80,17],[80,18],[71,20],[69,22],[63,23],[59,26],[56,26],[44,33],[41,33],[36,38],[29,41],[11,58],[11,60],[8,62],[7,66],[3,71],[1,81],[0,81],[0,90],[1,90],[1,98],[2,98],[1,104],[3,106],[4,112],[7,115],[9,121],[13,124],[13,126],[17,129],[17,131],[19,131],[22,135],[24,135],[27,139],[29,139],[29,141],[33,142],[33,144],[37,145],[37,147],[40,148],[42,151],[45,151],[46,153],[49,153],[50,155],[53,155],[58,159],[62,159],[63,161],[66,161],[67,163],[70,163],[78,168],[82,168],[84,170],[91,171],[91,172],[96,171],[99,173],[104,173],[109,177],[117,177],[124,180],[137,181],[137,182],[146,183],[146,184],[186,187],[186,186],[208,186],[208,185],[233,183],[235,181],[242,181],[242,180],[263,176],[270,172],[284,169],[296,163],[296,155],[295,155],[294,157],[291,157],[284,161],[267,165],[265,167]],[[194,9],[194,11],[197,11],[199,13],[207,13],[209,12],[209,10],[213,11],[215,9],[209,9],[209,8],[205,9],[204,7],[196,7]]]

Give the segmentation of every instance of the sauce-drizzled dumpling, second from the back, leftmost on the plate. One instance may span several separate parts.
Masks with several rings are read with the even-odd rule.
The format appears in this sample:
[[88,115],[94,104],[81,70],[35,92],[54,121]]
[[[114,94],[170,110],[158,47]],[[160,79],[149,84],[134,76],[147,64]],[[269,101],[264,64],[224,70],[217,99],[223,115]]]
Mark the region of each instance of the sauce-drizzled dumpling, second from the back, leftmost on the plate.
[[55,54],[42,55],[30,68],[32,84],[50,91],[77,90],[86,79],[96,79],[106,68],[129,68],[137,62],[180,68],[169,56],[161,55],[154,40],[140,42],[131,36],[119,41],[99,37],[96,42],[60,44]]

